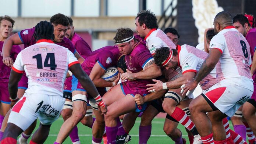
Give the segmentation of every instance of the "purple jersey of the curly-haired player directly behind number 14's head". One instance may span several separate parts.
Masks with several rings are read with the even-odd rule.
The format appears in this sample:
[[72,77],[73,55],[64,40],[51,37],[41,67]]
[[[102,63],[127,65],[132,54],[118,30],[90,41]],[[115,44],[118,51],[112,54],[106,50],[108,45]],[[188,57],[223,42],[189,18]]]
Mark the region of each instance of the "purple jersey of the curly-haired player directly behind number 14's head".
[[[36,40],[33,37],[34,33],[35,33],[35,27],[31,29],[24,29],[18,32],[21,42],[24,43],[24,49],[36,43]],[[70,39],[66,37],[64,37],[60,43],[56,43],[56,44],[68,48],[68,50],[70,50],[73,54],[75,53],[74,45],[72,44]]]

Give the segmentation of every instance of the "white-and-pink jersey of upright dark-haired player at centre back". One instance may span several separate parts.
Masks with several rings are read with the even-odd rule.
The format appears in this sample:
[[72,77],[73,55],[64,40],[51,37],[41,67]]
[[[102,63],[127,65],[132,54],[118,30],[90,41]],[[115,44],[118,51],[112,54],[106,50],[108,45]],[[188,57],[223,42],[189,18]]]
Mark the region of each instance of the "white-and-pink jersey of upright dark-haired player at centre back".
[[152,55],[157,48],[169,47],[176,49],[173,41],[171,41],[161,29],[151,29],[144,39],[146,40],[146,46]]

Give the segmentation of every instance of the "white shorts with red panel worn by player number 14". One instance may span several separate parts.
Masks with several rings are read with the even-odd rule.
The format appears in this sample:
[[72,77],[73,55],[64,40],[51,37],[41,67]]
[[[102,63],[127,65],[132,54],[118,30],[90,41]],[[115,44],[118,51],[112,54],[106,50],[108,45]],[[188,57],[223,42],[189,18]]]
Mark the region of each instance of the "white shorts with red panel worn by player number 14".
[[42,125],[51,125],[60,116],[65,98],[46,94],[24,96],[11,109],[8,123],[26,130],[37,118]]

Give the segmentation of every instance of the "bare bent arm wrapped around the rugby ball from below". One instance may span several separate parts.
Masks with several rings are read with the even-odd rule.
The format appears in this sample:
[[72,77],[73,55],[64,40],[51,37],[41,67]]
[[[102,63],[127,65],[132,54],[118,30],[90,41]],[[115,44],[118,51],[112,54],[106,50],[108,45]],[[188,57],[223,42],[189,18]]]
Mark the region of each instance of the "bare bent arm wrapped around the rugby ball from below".
[[98,62],[93,66],[92,71],[90,73],[90,79],[92,79],[93,83],[95,84],[96,87],[112,87],[115,86],[119,79],[120,79],[120,74],[118,73],[118,77],[113,81],[113,82],[108,82],[101,78],[105,73],[105,70],[99,65]]

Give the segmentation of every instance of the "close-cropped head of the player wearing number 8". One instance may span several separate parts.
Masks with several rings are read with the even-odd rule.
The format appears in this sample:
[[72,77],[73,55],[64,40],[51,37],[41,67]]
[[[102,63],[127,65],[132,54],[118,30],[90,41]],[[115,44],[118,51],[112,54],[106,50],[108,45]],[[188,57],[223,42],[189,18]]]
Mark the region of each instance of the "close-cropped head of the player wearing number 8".
[[233,19],[229,12],[221,11],[214,18],[214,32],[218,33],[227,26],[233,25]]

